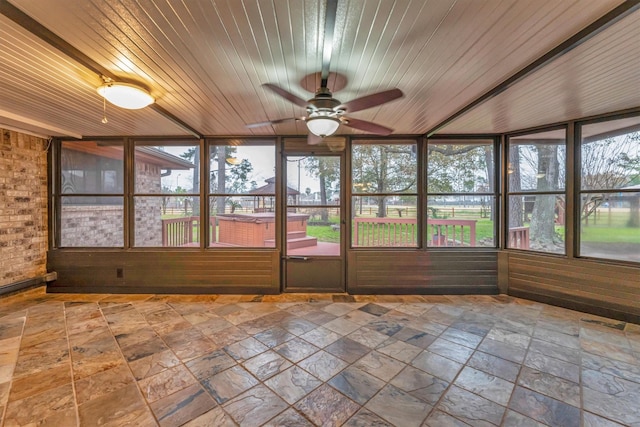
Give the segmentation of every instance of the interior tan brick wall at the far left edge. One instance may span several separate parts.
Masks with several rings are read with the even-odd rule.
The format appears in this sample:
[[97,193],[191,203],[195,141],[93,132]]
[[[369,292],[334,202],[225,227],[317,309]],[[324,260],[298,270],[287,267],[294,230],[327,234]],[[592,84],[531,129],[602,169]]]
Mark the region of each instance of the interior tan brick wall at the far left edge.
[[0,286],[46,273],[47,144],[0,129]]

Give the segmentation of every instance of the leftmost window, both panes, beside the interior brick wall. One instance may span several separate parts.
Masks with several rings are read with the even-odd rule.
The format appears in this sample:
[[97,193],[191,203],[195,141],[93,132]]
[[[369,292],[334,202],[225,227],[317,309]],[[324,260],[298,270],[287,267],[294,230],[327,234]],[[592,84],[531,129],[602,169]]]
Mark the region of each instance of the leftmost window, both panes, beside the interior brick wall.
[[60,246],[124,245],[122,142],[63,141]]

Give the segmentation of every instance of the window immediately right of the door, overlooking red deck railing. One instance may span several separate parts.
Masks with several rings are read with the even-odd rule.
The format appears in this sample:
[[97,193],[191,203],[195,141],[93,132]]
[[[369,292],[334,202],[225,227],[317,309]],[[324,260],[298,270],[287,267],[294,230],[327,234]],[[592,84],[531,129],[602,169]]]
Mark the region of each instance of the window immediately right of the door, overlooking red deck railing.
[[415,141],[357,141],[352,146],[352,246],[417,247]]

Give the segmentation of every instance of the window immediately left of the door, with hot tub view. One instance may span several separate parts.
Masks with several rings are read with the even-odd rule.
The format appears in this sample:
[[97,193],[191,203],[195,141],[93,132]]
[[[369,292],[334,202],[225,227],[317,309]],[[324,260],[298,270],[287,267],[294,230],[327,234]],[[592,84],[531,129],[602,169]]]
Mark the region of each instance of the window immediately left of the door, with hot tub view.
[[275,247],[275,145],[212,141],[209,246]]

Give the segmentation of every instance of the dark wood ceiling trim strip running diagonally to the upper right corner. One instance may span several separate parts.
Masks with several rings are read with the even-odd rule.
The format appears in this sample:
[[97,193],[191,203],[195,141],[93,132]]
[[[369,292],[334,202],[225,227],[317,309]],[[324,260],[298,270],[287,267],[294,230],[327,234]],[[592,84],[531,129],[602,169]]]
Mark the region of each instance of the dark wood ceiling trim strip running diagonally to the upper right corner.
[[478,105],[481,105],[486,101],[496,97],[500,93],[509,89],[511,86],[515,85],[516,83],[520,82],[524,78],[533,74],[540,68],[548,65],[549,63],[556,60],[557,58],[560,58],[561,56],[567,54],[568,52],[582,45],[586,41],[590,40],[592,37],[595,37],[602,31],[614,25],[616,22],[629,16],[630,14],[634,13],[639,9],[640,9],[640,0],[625,1],[624,3],[617,6],[613,10],[609,11],[608,13],[606,13],[605,15],[603,15],[602,17],[600,17],[599,19],[597,19],[596,21],[594,21],[593,23],[585,27],[584,29],[580,30],[573,36],[569,37],[564,42],[560,43],[555,48],[551,49],[546,54],[542,55],[540,58],[533,61],[531,64],[527,65],[526,67],[524,67],[523,69],[521,69],[520,71],[512,75],[511,77],[499,83],[497,86],[485,92],[480,97],[471,101],[469,104],[465,105],[460,110],[456,111],[455,113],[453,113],[452,115],[450,115],[449,117],[447,117],[446,119],[444,119],[443,121],[435,125],[425,135],[427,137],[431,137],[440,129],[444,128],[445,126],[453,122],[458,117],[461,117],[463,114],[471,111]]

